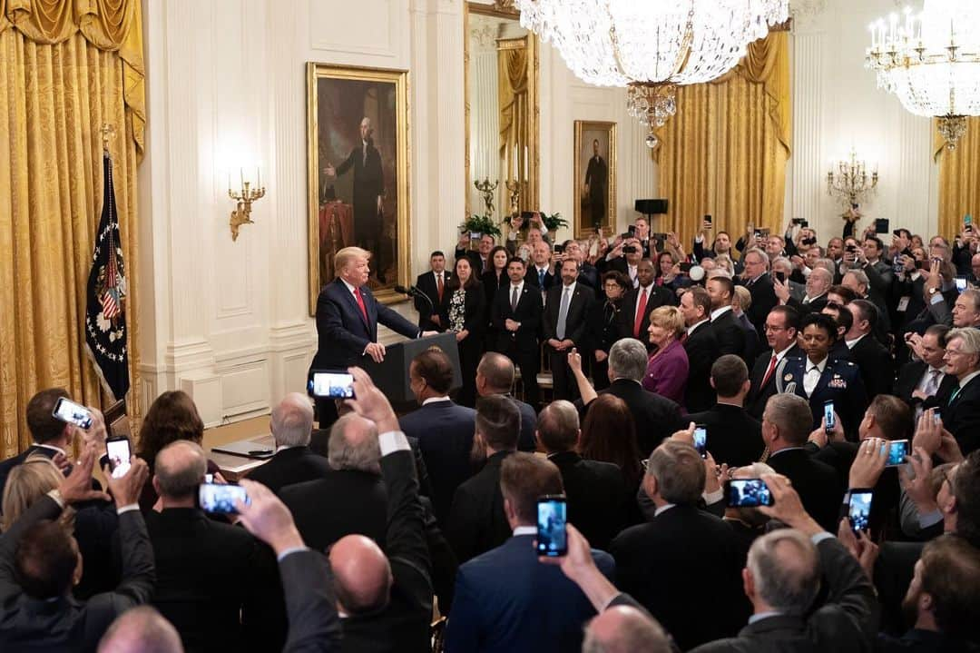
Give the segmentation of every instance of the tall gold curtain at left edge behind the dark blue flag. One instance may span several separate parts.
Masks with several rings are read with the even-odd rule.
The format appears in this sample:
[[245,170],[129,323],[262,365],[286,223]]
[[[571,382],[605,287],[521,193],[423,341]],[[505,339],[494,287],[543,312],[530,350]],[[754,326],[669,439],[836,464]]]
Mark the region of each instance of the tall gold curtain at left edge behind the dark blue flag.
[[[136,167],[143,153],[139,0],[0,0],[0,456],[30,442],[25,406],[62,386],[99,406],[84,353],[85,291],[110,142],[127,285],[138,287]],[[138,296],[126,297],[129,414],[141,412]]]

